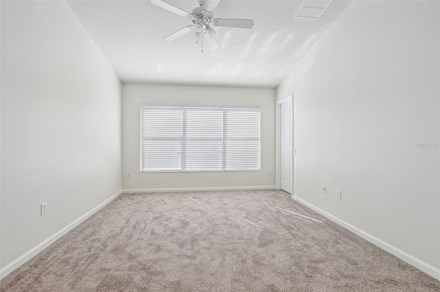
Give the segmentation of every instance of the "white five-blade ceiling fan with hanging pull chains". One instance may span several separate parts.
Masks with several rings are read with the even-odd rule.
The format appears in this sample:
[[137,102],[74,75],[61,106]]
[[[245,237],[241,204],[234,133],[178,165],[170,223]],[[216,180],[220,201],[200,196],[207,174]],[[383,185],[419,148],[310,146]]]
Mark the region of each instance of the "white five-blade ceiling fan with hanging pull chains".
[[177,32],[166,36],[164,40],[175,40],[179,36],[183,36],[188,32],[195,31],[197,41],[202,35],[201,51],[203,51],[203,38],[206,40],[206,42],[208,42],[210,49],[214,51],[219,49],[220,46],[219,42],[217,42],[217,39],[215,38],[215,34],[217,32],[213,26],[247,29],[251,29],[254,26],[254,21],[252,19],[214,19],[212,11],[214,11],[214,9],[217,7],[219,1],[220,0],[197,0],[197,7],[194,8],[190,13],[162,0],[151,0],[151,3],[175,14],[184,16],[192,21],[192,25],[179,29]]

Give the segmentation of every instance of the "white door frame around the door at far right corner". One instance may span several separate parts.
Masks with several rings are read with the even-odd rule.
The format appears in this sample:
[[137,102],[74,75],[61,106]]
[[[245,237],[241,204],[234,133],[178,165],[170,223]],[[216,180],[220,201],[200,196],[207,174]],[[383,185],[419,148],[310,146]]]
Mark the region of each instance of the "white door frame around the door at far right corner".
[[[292,139],[292,154],[294,154],[294,95],[287,95],[287,97],[283,97],[276,101],[275,107],[275,188],[277,190],[281,189],[281,105],[285,104],[289,101],[292,101],[292,135],[290,138]],[[294,155],[292,155],[292,160],[294,160]],[[292,161],[292,176],[294,177],[294,161]],[[294,179],[292,179],[292,198],[294,197]]]

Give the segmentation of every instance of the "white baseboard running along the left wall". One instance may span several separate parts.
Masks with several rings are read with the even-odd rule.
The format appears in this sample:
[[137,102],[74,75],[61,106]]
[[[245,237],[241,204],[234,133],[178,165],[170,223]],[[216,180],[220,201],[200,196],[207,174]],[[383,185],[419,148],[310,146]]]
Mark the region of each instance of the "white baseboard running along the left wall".
[[40,243],[39,245],[36,245],[31,250],[28,250],[28,252],[25,252],[22,256],[19,258],[16,258],[12,261],[9,265],[6,265],[3,267],[3,269],[0,270],[0,280],[5,278],[5,276],[8,276],[14,269],[17,269],[24,263],[26,263],[28,260],[39,254],[39,252],[42,252],[46,247],[54,243],[56,240],[60,239],[61,236],[65,235],[70,230],[74,229],[76,226],[78,226],[80,223],[82,223],[85,219],[89,218],[91,215],[94,215],[94,213],[98,212],[102,207],[109,204],[109,202],[113,201],[116,197],[118,197],[120,194],[122,194],[122,191],[118,191],[118,193],[115,193],[108,199],[106,199],[104,202],[96,206],[95,208],[89,210],[85,215],[79,217],[69,225],[65,226],[65,228],[59,230],[54,235],[50,236],[48,239]]

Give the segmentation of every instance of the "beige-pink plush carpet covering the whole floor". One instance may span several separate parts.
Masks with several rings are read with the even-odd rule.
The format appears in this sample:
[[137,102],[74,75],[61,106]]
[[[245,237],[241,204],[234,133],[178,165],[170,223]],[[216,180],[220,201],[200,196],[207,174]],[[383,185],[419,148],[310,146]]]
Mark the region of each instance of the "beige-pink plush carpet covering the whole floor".
[[283,191],[121,195],[0,291],[440,291]]

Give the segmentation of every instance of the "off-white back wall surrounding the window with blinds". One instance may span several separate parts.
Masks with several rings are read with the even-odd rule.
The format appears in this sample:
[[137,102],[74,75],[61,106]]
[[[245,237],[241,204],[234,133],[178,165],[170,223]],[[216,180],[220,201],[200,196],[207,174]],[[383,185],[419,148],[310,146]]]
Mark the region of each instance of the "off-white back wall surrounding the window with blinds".
[[[261,171],[140,173],[140,104],[261,106]],[[122,186],[128,190],[274,187],[275,90],[124,84],[122,86]],[[126,172],[131,178],[126,178]]]

